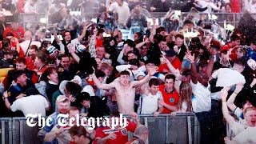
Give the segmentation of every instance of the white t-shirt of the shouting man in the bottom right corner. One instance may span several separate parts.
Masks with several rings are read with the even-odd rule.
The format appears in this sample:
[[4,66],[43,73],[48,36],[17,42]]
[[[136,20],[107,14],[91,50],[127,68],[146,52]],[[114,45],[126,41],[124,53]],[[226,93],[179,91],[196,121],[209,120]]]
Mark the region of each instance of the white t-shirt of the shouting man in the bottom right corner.
[[246,130],[242,130],[234,140],[242,144],[255,144],[256,143],[256,127],[248,127]]

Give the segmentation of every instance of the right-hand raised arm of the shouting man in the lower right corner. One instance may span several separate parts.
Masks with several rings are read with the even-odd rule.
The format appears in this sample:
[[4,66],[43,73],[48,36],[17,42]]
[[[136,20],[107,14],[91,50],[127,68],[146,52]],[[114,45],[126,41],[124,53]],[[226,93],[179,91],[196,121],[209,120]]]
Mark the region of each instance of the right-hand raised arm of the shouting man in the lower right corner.
[[237,97],[238,93],[240,93],[240,91],[242,90],[243,85],[243,83],[238,83],[235,87],[234,93],[230,95],[230,98],[226,102],[227,106],[230,108],[231,111],[234,111],[237,108],[237,106],[234,105],[234,100]]

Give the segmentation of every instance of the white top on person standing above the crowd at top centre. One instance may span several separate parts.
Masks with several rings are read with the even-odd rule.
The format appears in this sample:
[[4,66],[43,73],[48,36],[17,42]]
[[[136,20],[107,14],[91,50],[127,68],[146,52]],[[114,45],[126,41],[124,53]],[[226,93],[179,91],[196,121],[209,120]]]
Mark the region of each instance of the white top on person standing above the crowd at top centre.
[[114,2],[110,5],[109,10],[118,13],[119,24],[125,24],[127,19],[130,17],[130,9],[127,2],[123,2],[122,6],[118,6],[118,3]]

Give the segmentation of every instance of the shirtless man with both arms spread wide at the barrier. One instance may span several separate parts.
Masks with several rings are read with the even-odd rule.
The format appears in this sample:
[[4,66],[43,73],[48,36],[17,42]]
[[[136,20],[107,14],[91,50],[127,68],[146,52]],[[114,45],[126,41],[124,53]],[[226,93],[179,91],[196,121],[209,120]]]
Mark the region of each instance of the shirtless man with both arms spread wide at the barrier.
[[110,90],[114,88],[117,91],[118,111],[122,114],[130,114],[134,112],[134,97],[135,87],[142,86],[149,82],[152,75],[157,72],[156,69],[151,68],[145,78],[140,81],[130,82],[130,73],[126,70],[120,73],[119,82],[111,82],[110,84],[102,84],[98,81],[95,74],[91,74],[94,83],[99,89]]

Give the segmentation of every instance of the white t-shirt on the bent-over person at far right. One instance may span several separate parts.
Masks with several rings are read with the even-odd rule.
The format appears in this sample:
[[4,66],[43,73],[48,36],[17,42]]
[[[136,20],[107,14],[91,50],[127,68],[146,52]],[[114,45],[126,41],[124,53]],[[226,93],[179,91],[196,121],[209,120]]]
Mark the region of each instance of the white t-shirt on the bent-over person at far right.
[[211,75],[213,78],[218,78],[216,86],[233,86],[239,82],[246,83],[245,77],[238,72],[229,68],[220,68]]

